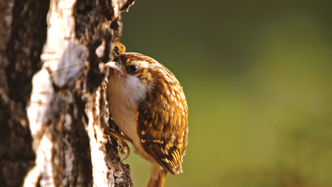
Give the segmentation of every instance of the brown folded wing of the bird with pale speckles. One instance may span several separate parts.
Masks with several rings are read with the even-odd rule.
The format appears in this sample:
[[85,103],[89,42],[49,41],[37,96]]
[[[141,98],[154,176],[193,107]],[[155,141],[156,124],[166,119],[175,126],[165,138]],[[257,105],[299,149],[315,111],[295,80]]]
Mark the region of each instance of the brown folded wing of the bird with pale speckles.
[[187,147],[187,102],[178,82],[156,84],[138,106],[136,120],[145,151],[173,175],[181,172]]

